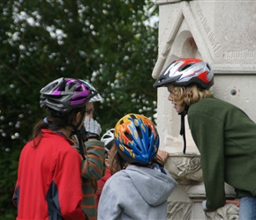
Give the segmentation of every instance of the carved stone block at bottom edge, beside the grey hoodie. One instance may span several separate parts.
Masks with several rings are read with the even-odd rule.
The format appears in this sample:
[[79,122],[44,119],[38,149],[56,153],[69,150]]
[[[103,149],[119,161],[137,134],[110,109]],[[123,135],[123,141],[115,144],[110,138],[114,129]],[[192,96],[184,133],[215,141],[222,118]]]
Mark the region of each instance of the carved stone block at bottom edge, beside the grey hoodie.
[[169,202],[167,219],[188,220],[192,213],[192,202]]

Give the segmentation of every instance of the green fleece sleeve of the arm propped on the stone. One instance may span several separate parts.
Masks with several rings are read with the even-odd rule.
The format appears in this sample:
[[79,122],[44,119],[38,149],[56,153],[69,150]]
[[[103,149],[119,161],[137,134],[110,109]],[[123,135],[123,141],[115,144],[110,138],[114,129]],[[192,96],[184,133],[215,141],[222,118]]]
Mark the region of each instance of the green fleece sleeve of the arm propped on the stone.
[[200,112],[189,112],[188,121],[193,140],[200,150],[207,210],[214,211],[225,204],[223,123]]

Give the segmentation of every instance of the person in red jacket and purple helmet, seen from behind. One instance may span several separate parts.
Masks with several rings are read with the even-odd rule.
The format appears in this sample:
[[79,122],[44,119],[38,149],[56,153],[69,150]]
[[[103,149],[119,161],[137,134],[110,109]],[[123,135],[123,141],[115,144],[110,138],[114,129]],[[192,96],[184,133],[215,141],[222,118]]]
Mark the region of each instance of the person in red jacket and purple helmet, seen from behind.
[[83,81],[58,78],[41,89],[40,106],[48,116],[38,121],[32,139],[21,150],[12,201],[17,220],[87,219],[81,209],[81,157],[70,137],[80,128],[86,105],[96,92]]

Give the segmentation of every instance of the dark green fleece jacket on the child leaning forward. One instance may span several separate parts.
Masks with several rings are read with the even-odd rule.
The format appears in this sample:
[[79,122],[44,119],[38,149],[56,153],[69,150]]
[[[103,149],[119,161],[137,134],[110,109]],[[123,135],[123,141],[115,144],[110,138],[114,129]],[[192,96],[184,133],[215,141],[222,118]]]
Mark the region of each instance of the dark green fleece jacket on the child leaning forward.
[[192,137],[200,150],[207,209],[225,204],[224,182],[237,196],[256,196],[256,124],[237,106],[205,98],[188,110]]

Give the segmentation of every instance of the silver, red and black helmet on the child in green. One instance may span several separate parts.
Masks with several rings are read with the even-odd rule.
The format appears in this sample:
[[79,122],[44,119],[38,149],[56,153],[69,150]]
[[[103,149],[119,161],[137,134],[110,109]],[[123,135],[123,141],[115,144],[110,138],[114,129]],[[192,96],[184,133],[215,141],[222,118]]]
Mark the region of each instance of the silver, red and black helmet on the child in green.
[[197,84],[208,89],[214,84],[214,72],[207,62],[200,59],[184,58],[171,62],[154,83],[154,88],[177,84]]

